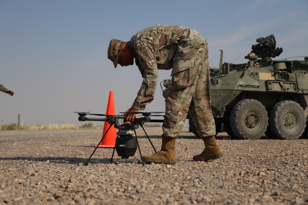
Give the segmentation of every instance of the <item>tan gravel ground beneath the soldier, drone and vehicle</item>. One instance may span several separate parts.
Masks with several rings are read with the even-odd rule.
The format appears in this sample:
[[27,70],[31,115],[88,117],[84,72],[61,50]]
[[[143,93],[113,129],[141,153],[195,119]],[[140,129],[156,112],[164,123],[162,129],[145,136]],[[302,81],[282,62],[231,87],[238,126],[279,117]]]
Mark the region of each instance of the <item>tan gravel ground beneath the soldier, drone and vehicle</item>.
[[[145,127],[158,151],[161,128]],[[0,131],[2,204],[308,204],[307,139],[235,140],[217,135],[224,157],[194,162],[204,149],[184,128],[178,162],[145,164],[98,148],[102,130]],[[137,129],[142,154],[153,148]]]

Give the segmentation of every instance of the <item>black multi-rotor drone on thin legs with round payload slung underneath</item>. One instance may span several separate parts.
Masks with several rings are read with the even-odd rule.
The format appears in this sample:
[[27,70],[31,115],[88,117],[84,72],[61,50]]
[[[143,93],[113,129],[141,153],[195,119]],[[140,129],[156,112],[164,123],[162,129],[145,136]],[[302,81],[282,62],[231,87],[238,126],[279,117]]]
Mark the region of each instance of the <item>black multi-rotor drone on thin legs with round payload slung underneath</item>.
[[[111,162],[112,162],[115,150],[117,151],[118,156],[121,156],[122,159],[128,159],[128,157],[135,155],[135,152],[138,148],[139,153],[140,153],[141,162],[142,162],[142,165],[144,166],[144,162],[143,162],[141,151],[140,151],[140,146],[139,146],[137,135],[136,135],[136,129],[139,128],[139,126],[143,129],[154,151],[156,152],[156,149],[154,148],[150,138],[148,137],[148,134],[145,132],[143,124],[146,122],[163,122],[164,120],[154,120],[154,119],[151,120],[150,116],[163,116],[164,117],[164,115],[152,115],[152,113],[160,114],[160,113],[165,113],[165,112],[120,112],[124,114],[141,114],[142,115],[142,116],[136,116],[132,124],[130,122],[124,122],[125,115],[92,114],[90,112],[75,112],[75,113],[79,115],[78,117],[79,121],[106,121],[110,124],[106,133],[103,135],[102,139],[99,141],[99,144],[102,142],[102,140],[104,139],[104,137],[106,136],[107,132],[109,131],[112,125],[116,129],[119,129],[117,132],[117,137],[115,138],[115,147],[113,148]],[[87,117],[87,115],[104,116],[104,118]],[[88,165],[89,160],[93,156],[96,149],[99,147],[99,144],[95,147],[91,156],[89,157],[89,159],[84,165]]]

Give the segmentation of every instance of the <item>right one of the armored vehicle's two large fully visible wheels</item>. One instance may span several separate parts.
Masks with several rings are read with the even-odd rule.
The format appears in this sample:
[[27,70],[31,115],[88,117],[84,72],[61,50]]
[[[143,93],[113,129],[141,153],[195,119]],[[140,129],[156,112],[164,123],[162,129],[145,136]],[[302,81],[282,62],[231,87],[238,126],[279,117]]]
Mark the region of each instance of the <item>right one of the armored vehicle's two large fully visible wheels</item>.
[[294,101],[281,101],[270,112],[270,129],[281,140],[298,139],[306,127],[303,108]]

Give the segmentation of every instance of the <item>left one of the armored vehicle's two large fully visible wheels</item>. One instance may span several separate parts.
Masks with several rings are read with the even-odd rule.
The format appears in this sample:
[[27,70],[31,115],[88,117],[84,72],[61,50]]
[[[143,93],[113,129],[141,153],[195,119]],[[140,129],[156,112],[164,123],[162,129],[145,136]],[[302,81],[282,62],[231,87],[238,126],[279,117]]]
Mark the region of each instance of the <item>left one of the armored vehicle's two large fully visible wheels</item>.
[[234,105],[230,115],[230,125],[240,139],[259,139],[264,135],[268,116],[261,102],[244,99]]

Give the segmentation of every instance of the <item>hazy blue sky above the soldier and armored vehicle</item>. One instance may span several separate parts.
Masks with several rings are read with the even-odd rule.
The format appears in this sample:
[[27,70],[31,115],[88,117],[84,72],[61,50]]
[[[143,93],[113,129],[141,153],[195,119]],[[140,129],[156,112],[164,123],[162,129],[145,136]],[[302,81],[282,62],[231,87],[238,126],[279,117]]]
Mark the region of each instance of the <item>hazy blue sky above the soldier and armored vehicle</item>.
[[[111,38],[123,41],[156,24],[183,25],[208,41],[210,66],[245,63],[256,39],[274,34],[283,53],[308,56],[308,1],[73,1],[0,0],[0,120],[24,125],[84,124],[75,111],[115,112],[132,105],[142,77],[136,65],[114,69]],[[303,58],[296,58],[303,60]],[[160,71],[158,83],[170,71]],[[157,85],[145,111],[164,111]]]

